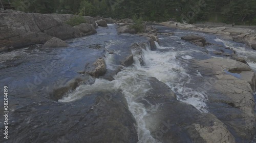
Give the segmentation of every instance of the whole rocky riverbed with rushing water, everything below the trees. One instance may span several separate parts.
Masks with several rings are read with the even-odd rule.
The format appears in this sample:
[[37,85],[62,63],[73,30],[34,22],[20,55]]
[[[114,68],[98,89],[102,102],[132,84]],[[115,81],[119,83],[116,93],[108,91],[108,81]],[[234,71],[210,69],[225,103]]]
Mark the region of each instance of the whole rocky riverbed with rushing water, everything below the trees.
[[164,22],[130,34],[130,19],[72,27],[73,15],[3,15],[0,43],[14,49],[0,53],[1,142],[253,142],[256,52],[233,41],[241,30],[228,41],[222,28]]

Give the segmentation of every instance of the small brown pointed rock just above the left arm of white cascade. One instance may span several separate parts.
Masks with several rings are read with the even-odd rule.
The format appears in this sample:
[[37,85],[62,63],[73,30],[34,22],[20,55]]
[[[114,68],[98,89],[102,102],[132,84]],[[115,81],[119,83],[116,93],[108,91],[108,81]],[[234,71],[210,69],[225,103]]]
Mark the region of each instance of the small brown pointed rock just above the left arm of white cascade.
[[103,76],[105,72],[106,64],[103,58],[99,58],[94,64],[92,64],[92,67],[90,67],[89,71],[86,71],[86,73],[96,78],[99,76]]

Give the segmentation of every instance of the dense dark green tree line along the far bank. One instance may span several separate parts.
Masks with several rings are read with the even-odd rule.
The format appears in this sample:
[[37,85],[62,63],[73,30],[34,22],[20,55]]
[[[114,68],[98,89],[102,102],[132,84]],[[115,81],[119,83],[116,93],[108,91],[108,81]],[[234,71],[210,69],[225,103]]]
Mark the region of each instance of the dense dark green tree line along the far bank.
[[[3,1],[3,0],[2,0]],[[8,1],[8,0],[7,0]],[[256,24],[255,0],[10,0],[25,12]]]

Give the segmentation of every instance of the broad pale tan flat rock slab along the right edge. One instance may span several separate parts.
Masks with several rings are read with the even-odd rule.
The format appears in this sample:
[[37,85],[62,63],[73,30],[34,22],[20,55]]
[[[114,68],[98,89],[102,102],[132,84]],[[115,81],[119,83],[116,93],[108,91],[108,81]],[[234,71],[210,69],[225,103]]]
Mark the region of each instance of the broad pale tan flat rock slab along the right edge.
[[250,142],[255,134],[255,73],[231,59],[199,61],[195,70],[204,77],[209,112],[222,121],[236,142]]

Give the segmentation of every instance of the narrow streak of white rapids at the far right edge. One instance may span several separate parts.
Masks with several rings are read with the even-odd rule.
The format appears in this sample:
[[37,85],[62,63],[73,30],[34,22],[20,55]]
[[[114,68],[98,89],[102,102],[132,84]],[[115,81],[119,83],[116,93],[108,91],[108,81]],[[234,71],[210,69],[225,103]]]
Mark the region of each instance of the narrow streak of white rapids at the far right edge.
[[245,58],[248,65],[256,71],[256,50],[246,49],[245,47],[238,47],[229,41],[224,41],[219,38],[217,38],[215,41],[222,42],[226,47],[233,48],[236,51],[236,53],[239,56]]

